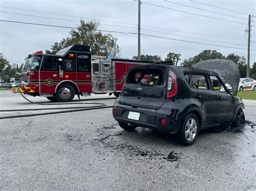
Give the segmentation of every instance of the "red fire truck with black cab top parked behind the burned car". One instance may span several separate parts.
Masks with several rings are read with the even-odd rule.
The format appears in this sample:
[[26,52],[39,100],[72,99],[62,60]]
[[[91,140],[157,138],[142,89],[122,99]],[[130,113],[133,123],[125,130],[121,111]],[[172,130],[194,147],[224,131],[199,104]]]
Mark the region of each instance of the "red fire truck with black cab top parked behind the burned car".
[[129,67],[152,62],[91,59],[90,47],[72,45],[56,54],[42,51],[27,56],[21,74],[23,86],[13,87],[14,93],[44,96],[50,101],[69,102],[75,95],[114,94],[119,96]]

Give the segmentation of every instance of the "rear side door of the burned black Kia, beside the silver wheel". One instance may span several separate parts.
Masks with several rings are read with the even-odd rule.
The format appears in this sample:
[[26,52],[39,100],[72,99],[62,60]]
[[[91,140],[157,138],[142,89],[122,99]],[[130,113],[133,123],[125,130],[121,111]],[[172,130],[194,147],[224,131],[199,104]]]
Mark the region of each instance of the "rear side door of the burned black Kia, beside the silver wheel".
[[203,112],[203,125],[212,125],[217,123],[214,92],[211,90],[206,74],[192,73],[192,92],[194,102]]

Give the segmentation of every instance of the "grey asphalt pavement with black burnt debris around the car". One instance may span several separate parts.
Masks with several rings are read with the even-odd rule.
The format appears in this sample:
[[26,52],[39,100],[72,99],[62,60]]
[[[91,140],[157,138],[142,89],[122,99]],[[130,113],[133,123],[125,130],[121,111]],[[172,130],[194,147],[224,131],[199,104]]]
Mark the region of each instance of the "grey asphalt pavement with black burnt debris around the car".
[[[83,97],[114,103],[91,98],[110,96]],[[256,101],[244,103],[246,120],[256,123]],[[52,107],[28,103],[10,90],[0,90],[0,104],[1,110]],[[38,112],[48,111],[0,116]],[[0,124],[0,189],[256,189],[256,126],[200,132],[197,142],[185,147],[174,135],[123,131],[111,108],[0,119]],[[178,160],[166,159],[172,151]]]

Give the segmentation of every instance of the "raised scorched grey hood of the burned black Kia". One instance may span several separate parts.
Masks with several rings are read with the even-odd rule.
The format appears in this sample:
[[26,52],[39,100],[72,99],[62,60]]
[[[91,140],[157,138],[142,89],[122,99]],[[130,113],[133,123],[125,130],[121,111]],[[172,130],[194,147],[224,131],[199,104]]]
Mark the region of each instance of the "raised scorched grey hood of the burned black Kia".
[[236,63],[231,60],[205,60],[196,63],[194,68],[216,72],[224,83],[230,84],[233,95],[237,95],[240,73]]

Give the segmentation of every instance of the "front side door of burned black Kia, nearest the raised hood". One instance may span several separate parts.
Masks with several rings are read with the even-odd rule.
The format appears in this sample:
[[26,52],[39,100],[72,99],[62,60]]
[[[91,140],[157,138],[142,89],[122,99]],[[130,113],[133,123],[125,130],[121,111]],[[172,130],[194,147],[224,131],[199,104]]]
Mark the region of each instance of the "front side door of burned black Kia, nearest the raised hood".
[[210,81],[217,101],[217,120],[219,123],[229,123],[234,115],[234,98],[225,90],[225,85],[219,76],[210,75]]

